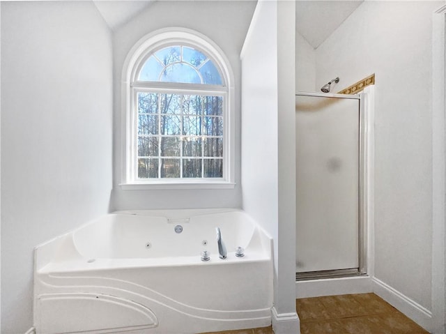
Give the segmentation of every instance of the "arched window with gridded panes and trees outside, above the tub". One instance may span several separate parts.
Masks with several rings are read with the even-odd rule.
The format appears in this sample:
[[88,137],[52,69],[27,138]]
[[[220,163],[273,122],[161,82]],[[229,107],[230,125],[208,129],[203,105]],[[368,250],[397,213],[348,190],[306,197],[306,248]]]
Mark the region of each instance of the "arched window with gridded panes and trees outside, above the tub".
[[191,31],[154,34],[127,70],[125,183],[232,183],[231,70]]

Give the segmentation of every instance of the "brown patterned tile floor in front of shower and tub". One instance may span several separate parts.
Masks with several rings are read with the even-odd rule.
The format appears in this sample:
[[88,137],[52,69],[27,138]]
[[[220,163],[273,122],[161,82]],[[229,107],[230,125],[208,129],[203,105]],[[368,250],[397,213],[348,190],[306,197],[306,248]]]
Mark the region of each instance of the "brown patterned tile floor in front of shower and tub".
[[[295,301],[295,307],[301,334],[429,334],[376,294],[301,298]],[[274,332],[265,327],[212,334]]]

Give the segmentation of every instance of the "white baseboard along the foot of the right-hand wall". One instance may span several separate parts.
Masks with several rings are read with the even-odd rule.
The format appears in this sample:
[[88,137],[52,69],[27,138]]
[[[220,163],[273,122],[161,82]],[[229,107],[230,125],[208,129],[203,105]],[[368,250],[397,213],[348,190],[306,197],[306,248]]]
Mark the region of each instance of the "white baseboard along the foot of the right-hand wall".
[[424,308],[422,305],[408,298],[408,296],[401,294],[400,291],[390,287],[378,278],[372,279],[374,293],[383,298],[387,303],[397,308],[407,317],[415,321],[427,331],[431,332],[432,326],[432,312]]

